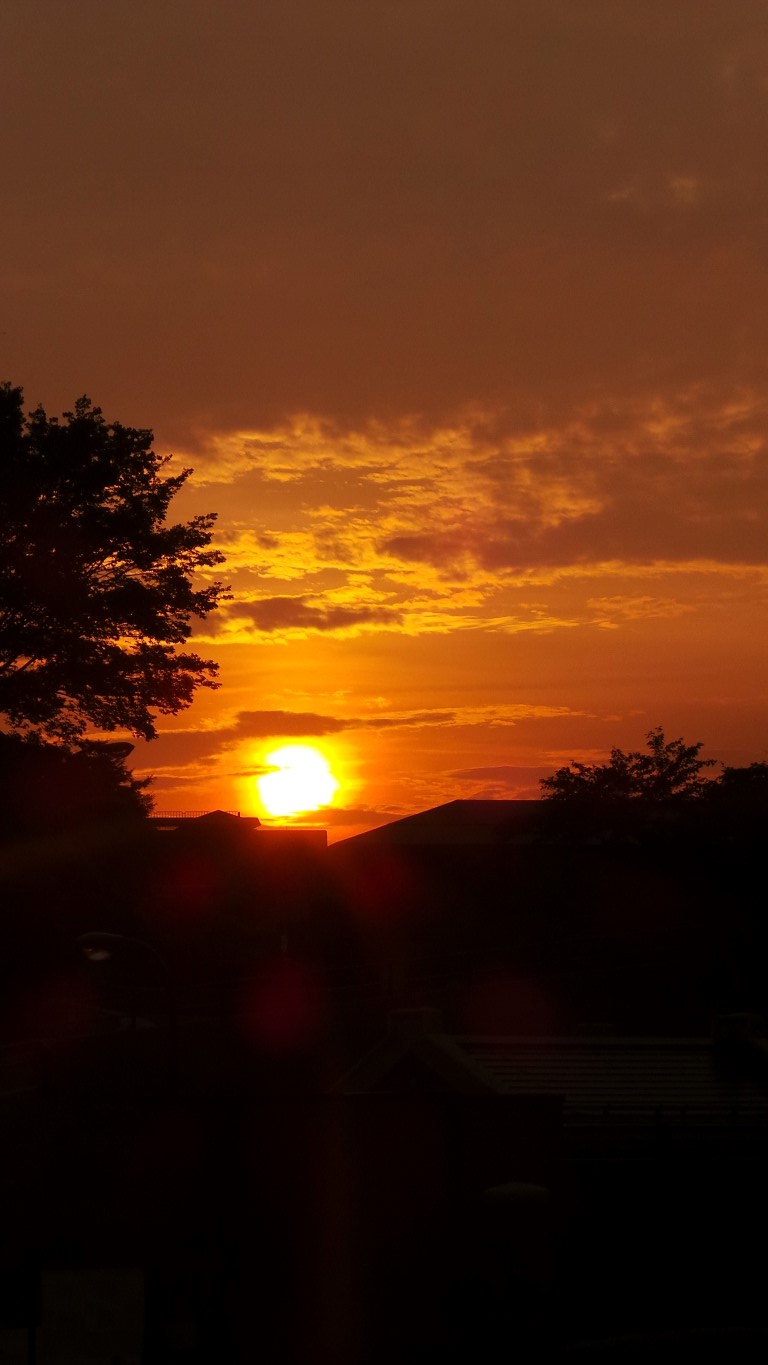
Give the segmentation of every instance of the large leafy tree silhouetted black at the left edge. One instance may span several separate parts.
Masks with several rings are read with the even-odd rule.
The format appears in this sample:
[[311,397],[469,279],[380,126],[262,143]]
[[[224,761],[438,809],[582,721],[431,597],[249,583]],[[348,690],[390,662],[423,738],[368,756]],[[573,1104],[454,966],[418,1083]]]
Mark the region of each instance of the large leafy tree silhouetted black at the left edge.
[[157,713],[217,687],[217,665],[180,648],[224,595],[216,517],[166,523],[191,471],[166,474],[151,431],[86,397],[63,422],[25,419],[22,400],[0,386],[0,717],[67,743],[89,728],[153,738]]

